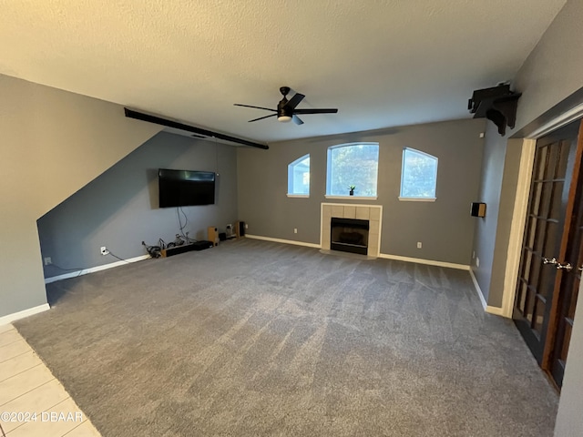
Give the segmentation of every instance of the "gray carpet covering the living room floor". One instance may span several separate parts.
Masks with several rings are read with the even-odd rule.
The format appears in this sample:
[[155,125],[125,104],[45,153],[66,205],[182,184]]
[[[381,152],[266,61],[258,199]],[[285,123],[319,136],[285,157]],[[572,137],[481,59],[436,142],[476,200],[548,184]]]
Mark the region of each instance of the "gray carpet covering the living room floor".
[[15,326],[105,437],[553,433],[466,271],[241,239],[47,290]]

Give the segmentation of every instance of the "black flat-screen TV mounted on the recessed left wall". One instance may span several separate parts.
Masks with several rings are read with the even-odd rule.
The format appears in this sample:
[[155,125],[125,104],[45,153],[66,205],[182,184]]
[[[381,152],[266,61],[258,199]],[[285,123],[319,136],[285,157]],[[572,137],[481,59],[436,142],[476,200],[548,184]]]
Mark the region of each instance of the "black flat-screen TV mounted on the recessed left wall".
[[159,168],[159,207],[214,205],[215,173]]

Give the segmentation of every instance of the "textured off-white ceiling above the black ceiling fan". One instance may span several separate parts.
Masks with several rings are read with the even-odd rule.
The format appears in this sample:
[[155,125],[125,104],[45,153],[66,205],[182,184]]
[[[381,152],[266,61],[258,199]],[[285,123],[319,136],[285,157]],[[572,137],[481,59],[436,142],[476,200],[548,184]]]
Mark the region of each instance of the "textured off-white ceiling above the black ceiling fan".
[[[0,0],[0,73],[269,142],[470,117],[565,0]],[[305,124],[254,123],[280,86]]]

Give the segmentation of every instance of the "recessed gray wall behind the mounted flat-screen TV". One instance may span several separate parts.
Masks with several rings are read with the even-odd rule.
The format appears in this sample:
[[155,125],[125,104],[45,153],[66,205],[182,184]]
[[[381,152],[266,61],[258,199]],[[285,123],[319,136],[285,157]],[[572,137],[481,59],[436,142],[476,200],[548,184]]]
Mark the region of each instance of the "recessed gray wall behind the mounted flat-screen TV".
[[180,232],[177,208],[158,206],[158,168],[218,172],[215,205],[181,211],[190,238],[207,239],[209,226],[224,230],[237,219],[236,160],[235,147],[159,133],[38,219],[42,256],[55,264],[45,267],[45,277],[118,261],[101,256],[101,246],[129,259],[148,253],[142,240],[174,240]]

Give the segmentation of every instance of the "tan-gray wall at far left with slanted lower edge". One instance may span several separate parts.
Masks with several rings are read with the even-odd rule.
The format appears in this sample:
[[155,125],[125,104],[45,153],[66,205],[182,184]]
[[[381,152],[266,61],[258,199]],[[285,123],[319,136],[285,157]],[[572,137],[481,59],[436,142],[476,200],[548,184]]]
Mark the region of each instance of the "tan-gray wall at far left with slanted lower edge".
[[0,75],[0,96],[3,317],[46,304],[36,220],[160,128],[118,105],[14,77]]

